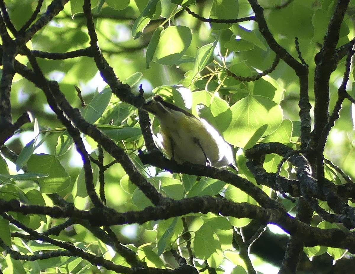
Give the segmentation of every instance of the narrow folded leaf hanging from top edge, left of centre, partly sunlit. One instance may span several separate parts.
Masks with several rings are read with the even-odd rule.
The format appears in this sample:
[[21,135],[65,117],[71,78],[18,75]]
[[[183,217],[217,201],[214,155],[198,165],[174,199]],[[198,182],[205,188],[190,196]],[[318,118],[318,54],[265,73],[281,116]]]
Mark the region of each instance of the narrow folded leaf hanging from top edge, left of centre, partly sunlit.
[[136,21],[134,21],[132,26],[132,36],[134,37],[134,39],[137,39],[142,35],[144,28],[148,25],[152,18],[156,16],[155,11],[157,10],[158,4],[160,4],[159,0],[149,0],[148,4],[145,6],[141,14],[138,16]]

